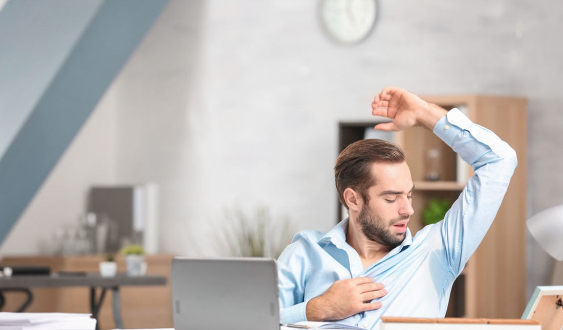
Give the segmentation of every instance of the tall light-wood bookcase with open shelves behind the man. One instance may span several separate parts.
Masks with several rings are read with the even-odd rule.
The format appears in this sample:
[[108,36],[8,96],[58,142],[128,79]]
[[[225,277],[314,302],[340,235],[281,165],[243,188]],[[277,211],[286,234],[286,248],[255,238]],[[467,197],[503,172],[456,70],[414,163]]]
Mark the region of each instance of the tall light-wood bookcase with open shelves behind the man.
[[[527,101],[519,97],[480,95],[423,96],[423,99],[446,110],[458,107],[473,123],[485,126],[508,142],[519,162],[493,225],[454,283],[446,316],[520,318],[525,308],[526,283]],[[339,123],[338,151],[363,139],[366,128],[380,122],[375,119]],[[428,200],[441,197],[454,201],[473,171],[425,128],[410,128],[387,137],[403,147],[415,184],[415,213],[409,223],[414,236],[424,225],[422,209]],[[436,155],[438,161],[434,159]],[[430,177],[438,177],[437,180],[428,180],[431,173],[434,174]],[[337,221],[340,221],[345,214],[339,202],[337,205]]]

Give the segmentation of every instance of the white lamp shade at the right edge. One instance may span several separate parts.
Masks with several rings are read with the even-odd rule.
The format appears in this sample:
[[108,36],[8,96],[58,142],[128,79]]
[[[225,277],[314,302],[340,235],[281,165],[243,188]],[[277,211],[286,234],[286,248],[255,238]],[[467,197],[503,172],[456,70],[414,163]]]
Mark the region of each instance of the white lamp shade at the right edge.
[[557,260],[563,260],[563,205],[541,211],[526,221],[535,241]]

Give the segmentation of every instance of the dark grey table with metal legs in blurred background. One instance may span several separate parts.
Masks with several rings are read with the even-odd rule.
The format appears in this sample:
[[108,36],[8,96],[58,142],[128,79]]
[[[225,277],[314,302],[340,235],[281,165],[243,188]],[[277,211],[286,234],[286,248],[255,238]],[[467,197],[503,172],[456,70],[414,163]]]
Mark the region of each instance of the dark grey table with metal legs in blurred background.
[[[0,278],[0,309],[5,303],[2,291],[21,291],[26,293],[27,300],[19,308],[23,311],[31,304],[33,294],[29,290],[32,287],[90,287],[90,310],[94,318],[97,319],[100,306],[104,301],[106,290],[113,291],[113,317],[115,325],[123,328],[123,322],[120,315],[119,287],[120,286],[151,286],[166,284],[166,277],[145,275],[139,277],[129,277],[125,274],[117,274],[115,277],[101,277],[100,274],[84,274],[84,275],[26,275],[15,277]],[[96,291],[100,289],[99,297],[96,297]],[[96,328],[98,326],[96,325]]]

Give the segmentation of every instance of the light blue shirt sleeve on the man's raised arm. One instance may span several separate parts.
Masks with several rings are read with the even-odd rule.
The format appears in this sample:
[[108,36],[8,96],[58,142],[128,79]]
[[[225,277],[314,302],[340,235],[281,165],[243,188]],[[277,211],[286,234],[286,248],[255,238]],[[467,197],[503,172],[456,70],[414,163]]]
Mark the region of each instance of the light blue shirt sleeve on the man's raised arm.
[[434,227],[440,231],[446,263],[457,277],[497,215],[517,165],[516,152],[455,108],[436,123],[434,133],[475,171],[444,220]]

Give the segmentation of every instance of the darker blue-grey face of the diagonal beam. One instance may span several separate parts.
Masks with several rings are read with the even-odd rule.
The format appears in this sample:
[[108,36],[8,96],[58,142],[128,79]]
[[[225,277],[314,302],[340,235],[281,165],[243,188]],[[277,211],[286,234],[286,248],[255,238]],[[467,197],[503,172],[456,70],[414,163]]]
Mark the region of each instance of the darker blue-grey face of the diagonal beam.
[[0,241],[166,3],[105,0],[101,4],[0,159]]

